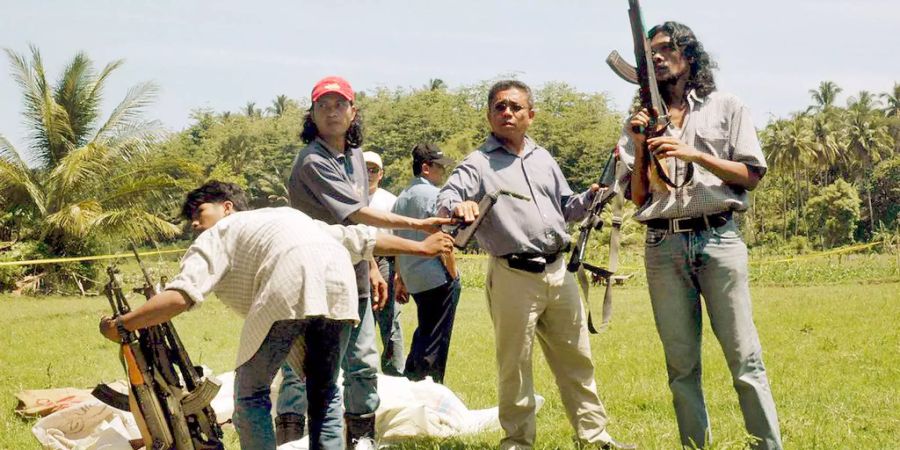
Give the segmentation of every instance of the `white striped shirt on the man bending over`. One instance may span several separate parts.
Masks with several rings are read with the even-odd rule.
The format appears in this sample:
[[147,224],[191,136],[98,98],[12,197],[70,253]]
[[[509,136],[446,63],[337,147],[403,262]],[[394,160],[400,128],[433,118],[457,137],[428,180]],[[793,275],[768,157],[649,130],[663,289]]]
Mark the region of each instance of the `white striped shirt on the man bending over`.
[[184,292],[191,308],[215,292],[245,318],[239,367],[278,320],[358,322],[353,264],[371,258],[374,247],[365,225],[327,225],[287,207],[238,212],[197,237],[166,289]]

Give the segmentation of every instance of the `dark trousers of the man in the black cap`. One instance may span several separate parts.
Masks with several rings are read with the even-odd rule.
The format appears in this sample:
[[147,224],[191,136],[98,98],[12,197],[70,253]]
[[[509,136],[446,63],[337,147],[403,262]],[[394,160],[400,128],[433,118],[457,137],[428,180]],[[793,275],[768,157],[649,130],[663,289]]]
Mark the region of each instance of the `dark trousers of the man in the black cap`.
[[437,383],[444,381],[450,335],[461,289],[459,280],[454,280],[412,295],[419,326],[413,334],[412,347],[406,359],[403,373],[406,378],[418,381],[430,376]]

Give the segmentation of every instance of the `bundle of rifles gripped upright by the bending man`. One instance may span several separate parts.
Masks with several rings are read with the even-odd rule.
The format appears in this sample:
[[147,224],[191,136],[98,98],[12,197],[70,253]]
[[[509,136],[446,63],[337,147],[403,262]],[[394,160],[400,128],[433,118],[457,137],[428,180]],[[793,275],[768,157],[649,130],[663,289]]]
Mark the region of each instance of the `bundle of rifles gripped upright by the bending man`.
[[[156,288],[132,251],[144,274],[140,290],[149,300]],[[117,267],[106,269],[104,288],[114,317],[131,311],[122,292]],[[146,448],[153,450],[222,450],[222,429],[210,402],[220,384],[202,376],[202,368],[191,362],[175,326],[164,322],[122,336],[122,365],[128,377],[129,395],[99,384],[92,394],[104,403],[135,415]]]

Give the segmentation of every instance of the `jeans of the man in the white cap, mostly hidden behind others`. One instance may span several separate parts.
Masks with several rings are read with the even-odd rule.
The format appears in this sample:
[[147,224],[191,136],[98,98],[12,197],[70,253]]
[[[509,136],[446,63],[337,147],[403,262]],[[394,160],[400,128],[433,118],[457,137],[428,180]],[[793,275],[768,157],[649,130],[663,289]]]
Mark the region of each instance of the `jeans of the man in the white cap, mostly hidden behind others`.
[[400,328],[400,305],[394,301],[394,262],[391,258],[378,257],[378,270],[388,284],[388,300],[384,308],[375,311],[375,323],[381,334],[381,372],[399,377],[403,375],[403,329]]

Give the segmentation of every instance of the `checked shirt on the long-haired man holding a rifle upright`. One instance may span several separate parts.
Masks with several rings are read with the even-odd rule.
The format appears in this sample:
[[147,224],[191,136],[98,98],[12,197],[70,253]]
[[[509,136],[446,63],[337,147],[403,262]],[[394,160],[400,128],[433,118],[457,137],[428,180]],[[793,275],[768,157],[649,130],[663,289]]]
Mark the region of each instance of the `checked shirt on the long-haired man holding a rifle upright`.
[[[766,172],[766,161],[750,111],[734,95],[714,91],[700,98],[694,91],[688,94],[688,114],[681,129],[670,127],[669,136],[680,138],[695,149],[717,158],[753,166],[760,175]],[[625,126],[628,126],[626,123]],[[619,157],[634,167],[634,143],[624,131],[618,143]],[[687,165],[677,158],[661,160],[667,164],[669,177],[675,184],[684,180]],[[721,178],[694,164],[690,183],[668,192],[650,192],[650,197],[634,214],[635,220],[675,219],[699,217],[725,211],[746,211],[749,207],[747,190],[726,184]]]

